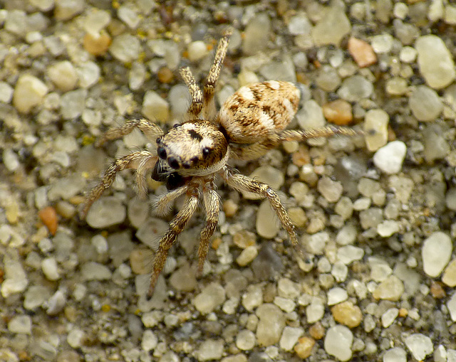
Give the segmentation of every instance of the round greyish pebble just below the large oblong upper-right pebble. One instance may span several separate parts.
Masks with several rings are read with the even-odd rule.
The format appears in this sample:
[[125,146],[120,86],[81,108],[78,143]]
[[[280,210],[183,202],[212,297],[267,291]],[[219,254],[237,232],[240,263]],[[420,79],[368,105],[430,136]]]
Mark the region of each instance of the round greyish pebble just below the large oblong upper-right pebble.
[[435,90],[425,85],[415,88],[408,99],[413,115],[424,122],[435,121],[443,110],[443,103]]

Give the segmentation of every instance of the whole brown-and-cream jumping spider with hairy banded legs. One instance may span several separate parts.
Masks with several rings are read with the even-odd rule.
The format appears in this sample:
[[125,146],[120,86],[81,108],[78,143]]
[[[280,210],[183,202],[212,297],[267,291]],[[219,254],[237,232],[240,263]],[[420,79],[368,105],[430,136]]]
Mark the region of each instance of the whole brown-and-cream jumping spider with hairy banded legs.
[[217,176],[222,176],[224,182],[234,190],[249,191],[267,198],[288,232],[291,243],[300,250],[294,225],[277,193],[266,183],[238,174],[228,166],[229,159],[257,159],[284,141],[303,141],[333,134],[357,134],[353,129],[341,127],[309,131],[284,130],[298,109],[300,95],[291,82],[279,80],[241,87],[217,112],[214,90],[227,53],[230,35],[230,31],[227,31],[219,42],[203,91],[197,85],[190,68],[180,70],[192,96],[192,103],[187,111],[188,120],[177,124],[165,134],[160,127],[147,119],[134,119],[126,122],[123,127],[110,129],[98,141],[98,145],[101,145],[108,140],[123,137],[138,127],[149,139],[156,142],[157,152],[137,151],[115,160],[105,171],[100,183],[88,195],[81,211],[82,218],[86,217],[90,206],[103,191],[111,186],[115,174],[123,169],[136,170],[136,183],[140,194],[146,192],[145,177],[148,170],[152,170],[152,179],[166,183],[169,192],[156,201],[154,207],[157,215],[167,213],[170,203],[185,195],[182,208],[172,218],[170,228],[162,236],[155,253],[149,297],[165,265],[168,250],[195,213],[201,197],[207,215],[198,249],[198,272],[202,272],[209,239],[214,234],[219,217],[220,200],[214,187]]

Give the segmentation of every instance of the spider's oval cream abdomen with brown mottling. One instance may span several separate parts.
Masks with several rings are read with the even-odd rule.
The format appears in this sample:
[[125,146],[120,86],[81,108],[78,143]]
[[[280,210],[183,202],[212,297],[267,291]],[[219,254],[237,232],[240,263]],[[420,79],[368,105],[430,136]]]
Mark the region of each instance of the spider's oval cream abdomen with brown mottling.
[[299,97],[291,82],[269,80],[246,85],[224,102],[218,122],[229,142],[253,144],[289,124],[298,110]]

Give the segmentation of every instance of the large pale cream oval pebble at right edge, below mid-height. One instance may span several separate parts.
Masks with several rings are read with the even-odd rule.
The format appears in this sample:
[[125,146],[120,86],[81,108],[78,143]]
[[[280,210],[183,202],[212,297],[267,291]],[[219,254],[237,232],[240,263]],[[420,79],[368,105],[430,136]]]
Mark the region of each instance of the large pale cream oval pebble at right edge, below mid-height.
[[430,277],[438,277],[450,261],[451,253],[451,238],[441,231],[432,233],[421,250],[424,272]]

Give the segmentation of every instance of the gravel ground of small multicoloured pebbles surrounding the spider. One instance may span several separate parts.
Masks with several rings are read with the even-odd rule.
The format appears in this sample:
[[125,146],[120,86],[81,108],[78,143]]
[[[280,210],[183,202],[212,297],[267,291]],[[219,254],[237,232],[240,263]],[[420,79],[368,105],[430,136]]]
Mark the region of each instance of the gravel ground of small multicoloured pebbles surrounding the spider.
[[[456,361],[456,6],[182,3],[0,1],[0,360]],[[153,143],[93,142],[135,117],[182,121],[178,69],[203,79],[227,26],[218,104],[289,80],[301,90],[291,128],[365,136],[234,164],[279,191],[311,265],[265,201],[219,182],[204,276],[199,212],[147,301],[172,215],[154,217],[129,171],[87,220],[78,209],[110,161]]]

